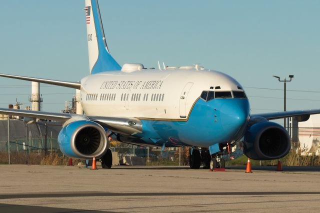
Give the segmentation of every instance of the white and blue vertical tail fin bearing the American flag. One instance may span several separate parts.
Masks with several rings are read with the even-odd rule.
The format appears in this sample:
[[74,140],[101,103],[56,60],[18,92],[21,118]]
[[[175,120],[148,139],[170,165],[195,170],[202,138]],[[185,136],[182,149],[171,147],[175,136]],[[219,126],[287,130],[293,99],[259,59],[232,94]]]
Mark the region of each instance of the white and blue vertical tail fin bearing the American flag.
[[97,0],[85,0],[86,31],[90,74],[120,70],[121,66],[110,55],[106,45]]

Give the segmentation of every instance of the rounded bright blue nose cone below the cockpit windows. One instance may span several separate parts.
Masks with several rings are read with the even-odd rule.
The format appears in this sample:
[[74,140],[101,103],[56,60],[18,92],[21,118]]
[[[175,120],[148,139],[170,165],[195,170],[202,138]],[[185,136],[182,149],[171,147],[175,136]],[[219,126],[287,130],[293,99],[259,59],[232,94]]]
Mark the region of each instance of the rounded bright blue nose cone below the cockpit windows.
[[225,131],[235,134],[247,122],[249,104],[246,99],[233,99],[221,107],[221,124]]

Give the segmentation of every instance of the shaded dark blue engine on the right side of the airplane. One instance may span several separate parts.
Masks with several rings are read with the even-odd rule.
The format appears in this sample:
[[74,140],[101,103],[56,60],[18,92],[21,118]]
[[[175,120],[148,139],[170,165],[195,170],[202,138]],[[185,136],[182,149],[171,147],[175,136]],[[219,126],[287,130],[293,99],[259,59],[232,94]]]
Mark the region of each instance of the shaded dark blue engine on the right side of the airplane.
[[291,147],[290,136],[275,122],[254,123],[247,129],[243,140],[243,153],[256,160],[277,159],[285,156]]

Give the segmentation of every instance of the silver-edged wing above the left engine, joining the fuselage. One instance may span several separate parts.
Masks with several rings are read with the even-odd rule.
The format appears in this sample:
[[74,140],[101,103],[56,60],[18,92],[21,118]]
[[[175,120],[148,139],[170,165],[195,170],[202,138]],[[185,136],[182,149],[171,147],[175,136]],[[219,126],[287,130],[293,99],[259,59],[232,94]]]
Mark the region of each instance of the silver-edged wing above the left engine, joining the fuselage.
[[54,113],[44,111],[32,111],[21,109],[0,108],[0,114],[8,114],[13,116],[40,118],[57,121],[67,121],[68,119],[88,119],[99,123],[101,126],[110,131],[125,135],[132,135],[142,132],[142,123],[135,117],[104,117],[104,116],[87,116],[84,114],[71,113]]

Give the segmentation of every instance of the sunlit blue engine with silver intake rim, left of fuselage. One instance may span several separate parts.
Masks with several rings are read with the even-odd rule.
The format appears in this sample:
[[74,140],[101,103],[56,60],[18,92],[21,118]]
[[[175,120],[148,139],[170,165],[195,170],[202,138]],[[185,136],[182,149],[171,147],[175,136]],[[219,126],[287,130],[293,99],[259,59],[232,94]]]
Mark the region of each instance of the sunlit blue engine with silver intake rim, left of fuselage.
[[89,120],[70,122],[58,135],[62,153],[80,159],[100,158],[106,152],[108,142],[103,127]]

